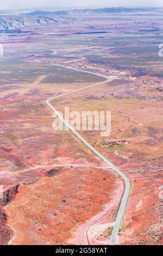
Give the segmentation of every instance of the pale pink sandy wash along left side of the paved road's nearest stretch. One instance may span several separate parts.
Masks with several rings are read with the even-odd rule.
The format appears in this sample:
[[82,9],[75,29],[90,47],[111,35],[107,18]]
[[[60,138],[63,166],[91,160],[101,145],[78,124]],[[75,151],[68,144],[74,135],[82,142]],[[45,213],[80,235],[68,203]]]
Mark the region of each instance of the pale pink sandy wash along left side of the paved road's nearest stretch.
[[117,211],[117,204],[120,203],[123,189],[123,181],[117,181],[112,200],[105,205],[103,211],[79,225],[73,239],[69,242],[75,245],[108,245],[110,235],[108,230],[114,224],[112,215]]

